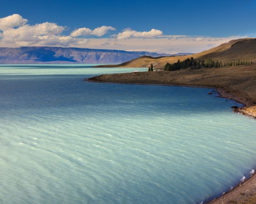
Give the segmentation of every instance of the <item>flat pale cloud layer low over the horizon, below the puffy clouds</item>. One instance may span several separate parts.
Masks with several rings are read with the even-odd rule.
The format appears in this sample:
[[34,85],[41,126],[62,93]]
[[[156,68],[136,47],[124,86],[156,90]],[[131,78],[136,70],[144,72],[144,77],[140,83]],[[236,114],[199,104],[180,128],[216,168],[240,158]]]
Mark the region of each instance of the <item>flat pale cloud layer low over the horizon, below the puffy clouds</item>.
[[[209,48],[218,46],[222,43],[230,40],[244,38],[245,36],[230,36],[215,38],[212,43],[212,37],[204,37],[199,41],[195,36],[172,36],[172,37],[156,37],[156,38],[126,38],[117,40],[113,38],[111,41],[109,38],[90,39],[87,43],[88,48],[96,49],[119,49],[126,51],[148,51],[166,54],[175,53],[198,53]],[[106,42],[108,42],[106,46]]]

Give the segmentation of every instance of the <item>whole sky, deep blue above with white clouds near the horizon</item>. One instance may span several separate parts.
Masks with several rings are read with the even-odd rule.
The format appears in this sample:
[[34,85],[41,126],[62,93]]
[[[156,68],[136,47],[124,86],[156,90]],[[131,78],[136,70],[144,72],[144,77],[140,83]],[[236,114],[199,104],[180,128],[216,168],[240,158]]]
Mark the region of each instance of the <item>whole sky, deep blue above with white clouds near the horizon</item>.
[[[256,37],[256,0],[0,1],[0,26],[1,20],[10,24],[17,20],[17,16],[4,19],[13,14],[26,20],[13,24],[15,27],[0,27],[1,47],[47,45],[174,53],[198,52],[228,40]],[[38,26],[33,33],[29,27],[52,29],[53,25],[43,24],[46,22],[59,28],[40,33]],[[22,38],[15,34],[21,30]]]

